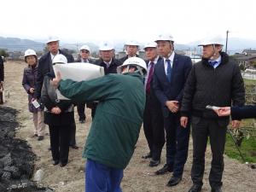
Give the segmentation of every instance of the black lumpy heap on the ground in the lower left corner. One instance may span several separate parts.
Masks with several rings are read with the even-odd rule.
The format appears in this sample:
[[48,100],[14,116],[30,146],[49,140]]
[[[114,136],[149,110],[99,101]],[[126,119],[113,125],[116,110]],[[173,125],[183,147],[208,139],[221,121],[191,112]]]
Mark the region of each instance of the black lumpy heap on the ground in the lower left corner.
[[26,141],[14,138],[19,126],[16,114],[13,108],[0,107],[0,191],[52,191],[30,181],[36,155]]

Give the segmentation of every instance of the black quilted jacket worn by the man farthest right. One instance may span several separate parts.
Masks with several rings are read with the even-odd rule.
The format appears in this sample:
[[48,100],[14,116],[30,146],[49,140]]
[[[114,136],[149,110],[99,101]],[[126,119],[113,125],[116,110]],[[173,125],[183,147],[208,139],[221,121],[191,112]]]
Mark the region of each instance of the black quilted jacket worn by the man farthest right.
[[221,53],[221,63],[214,68],[206,59],[192,67],[185,88],[181,107],[182,116],[189,114],[218,119],[207,105],[225,107],[241,106],[245,102],[245,89],[240,68],[229,55]]

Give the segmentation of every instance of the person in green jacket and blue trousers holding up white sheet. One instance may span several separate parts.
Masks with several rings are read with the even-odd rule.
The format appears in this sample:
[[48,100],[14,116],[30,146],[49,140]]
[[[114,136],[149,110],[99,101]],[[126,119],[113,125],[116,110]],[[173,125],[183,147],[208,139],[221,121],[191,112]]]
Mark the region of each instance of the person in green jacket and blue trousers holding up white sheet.
[[131,160],[143,123],[145,61],[132,57],[117,68],[120,74],[75,82],[61,80],[57,73],[53,84],[63,96],[75,102],[99,101],[84,148],[85,191],[120,192],[123,171]]

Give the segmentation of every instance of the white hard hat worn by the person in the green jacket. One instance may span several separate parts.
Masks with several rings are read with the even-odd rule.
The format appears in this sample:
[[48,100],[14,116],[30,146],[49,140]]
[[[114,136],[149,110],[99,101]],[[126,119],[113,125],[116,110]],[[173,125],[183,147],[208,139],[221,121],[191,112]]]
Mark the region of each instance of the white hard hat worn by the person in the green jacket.
[[136,66],[138,69],[138,72],[141,73],[141,75],[143,76],[146,75],[147,73],[146,62],[139,57],[133,56],[125,60],[123,65],[117,67],[117,73],[122,73],[122,69],[127,66]]

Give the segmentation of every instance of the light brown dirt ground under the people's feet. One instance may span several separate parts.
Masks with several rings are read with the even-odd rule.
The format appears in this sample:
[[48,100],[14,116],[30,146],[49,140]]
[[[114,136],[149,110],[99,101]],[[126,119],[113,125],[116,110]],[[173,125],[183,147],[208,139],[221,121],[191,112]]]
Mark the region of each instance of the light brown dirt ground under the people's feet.
[[[90,111],[86,109],[87,119],[85,124],[79,124],[78,115],[76,113],[77,122],[77,143],[79,149],[70,149],[69,162],[67,166],[52,166],[49,148],[49,134],[46,135],[44,141],[38,142],[32,136],[32,114],[27,109],[26,91],[21,86],[23,68],[26,64],[21,61],[8,61],[5,67],[5,91],[7,102],[5,106],[16,108],[20,113],[18,120],[20,129],[17,131],[16,137],[20,137],[31,144],[35,154],[38,155],[36,161],[36,169],[44,170],[44,178],[42,183],[55,189],[56,192],[82,192],[84,191],[84,159],[81,154],[84,148],[88,131],[90,130]],[[48,131],[48,128],[46,129]],[[190,169],[192,162],[192,142],[189,144],[189,158],[183,172],[183,180],[177,186],[166,187],[171,174],[164,176],[155,176],[154,172],[165,164],[165,149],[162,153],[162,162],[160,166],[151,168],[148,166],[148,160],[143,160],[143,154],[148,153],[146,139],[141,131],[137,142],[137,148],[129,166],[125,169],[122,181],[122,189],[124,192],[164,192],[164,191],[188,191],[192,182],[190,180]],[[204,185],[202,191],[210,191],[208,184],[208,174],[211,164],[211,150],[207,148],[206,154],[206,171],[204,177]],[[224,191],[254,192],[256,189],[256,171],[242,165],[237,160],[224,158]]]

